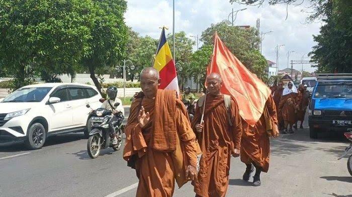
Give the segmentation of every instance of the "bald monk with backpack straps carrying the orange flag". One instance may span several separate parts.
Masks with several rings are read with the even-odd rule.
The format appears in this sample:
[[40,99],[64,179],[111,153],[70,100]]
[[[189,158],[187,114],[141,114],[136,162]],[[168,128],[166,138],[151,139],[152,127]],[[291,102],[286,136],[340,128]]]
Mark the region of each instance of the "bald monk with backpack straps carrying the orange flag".
[[[221,77],[212,73],[207,77],[206,84],[208,94],[205,104],[201,97],[192,121],[203,152],[198,178],[193,185],[198,197],[224,197],[229,183],[231,155],[239,156],[242,125],[237,103],[220,93]],[[230,103],[228,110],[225,97]],[[201,122],[203,108],[204,121]]]

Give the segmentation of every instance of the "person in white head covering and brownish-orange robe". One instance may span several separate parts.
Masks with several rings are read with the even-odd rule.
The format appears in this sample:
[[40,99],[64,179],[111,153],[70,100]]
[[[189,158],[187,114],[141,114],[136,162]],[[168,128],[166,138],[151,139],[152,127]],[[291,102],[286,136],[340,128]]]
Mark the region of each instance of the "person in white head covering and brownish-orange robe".
[[284,131],[286,134],[287,126],[290,125],[289,133],[294,133],[292,130],[293,124],[297,122],[297,104],[298,104],[298,91],[295,84],[290,81],[287,87],[284,89],[280,104],[279,111],[281,111],[283,119],[285,121]]

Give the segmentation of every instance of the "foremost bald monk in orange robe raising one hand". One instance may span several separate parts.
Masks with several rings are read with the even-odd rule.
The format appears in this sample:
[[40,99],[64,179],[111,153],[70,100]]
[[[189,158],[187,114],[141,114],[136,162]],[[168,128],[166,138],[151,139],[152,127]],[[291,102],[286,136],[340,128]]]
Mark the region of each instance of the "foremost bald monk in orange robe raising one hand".
[[172,196],[175,179],[181,187],[197,175],[196,136],[175,91],[158,90],[157,70],[143,69],[140,84],[125,127],[123,157],[136,169],[137,197]]

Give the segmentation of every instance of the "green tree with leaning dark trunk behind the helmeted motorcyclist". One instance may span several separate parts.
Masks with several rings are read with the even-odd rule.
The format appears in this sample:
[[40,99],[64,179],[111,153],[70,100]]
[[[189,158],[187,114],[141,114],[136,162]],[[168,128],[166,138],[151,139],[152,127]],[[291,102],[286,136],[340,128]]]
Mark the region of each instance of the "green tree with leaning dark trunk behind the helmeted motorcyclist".
[[94,24],[90,29],[89,54],[82,58],[82,64],[89,69],[91,78],[101,92],[101,84],[96,77],[96,69],[112,67],[123,59],[127,43],[127,26],[124,0],[92,0],[95,6]]

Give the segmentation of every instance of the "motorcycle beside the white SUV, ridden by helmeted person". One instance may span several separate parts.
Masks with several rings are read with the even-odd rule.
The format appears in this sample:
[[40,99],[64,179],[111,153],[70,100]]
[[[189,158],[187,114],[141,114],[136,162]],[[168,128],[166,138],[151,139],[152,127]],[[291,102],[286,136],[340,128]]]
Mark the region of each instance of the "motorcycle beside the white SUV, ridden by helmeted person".
[[[114,106],[119,106],[120,103],[115,103]],[[89,104],[86,105],[87,108],[91,108]],[[114,114],[111,110],[104,108],[98,108],[96,110],[92,109],[90,113],[90,126],[91,132],[89,133],[90,137],[87,142],[87,151],[91,158],[97,158],[100,154],[101,149],[112,147],[115,151],[120,150],[122,145],[122,122],[124,116],[122,112],[118,112],[115,116],[117,121],[114,122],[113,126],[115,128],[116,137],[118,143],[116,145],[112,144],[113,139],[110,136],[109,131],[109,121],[114,117]]]

